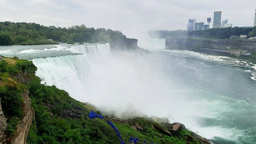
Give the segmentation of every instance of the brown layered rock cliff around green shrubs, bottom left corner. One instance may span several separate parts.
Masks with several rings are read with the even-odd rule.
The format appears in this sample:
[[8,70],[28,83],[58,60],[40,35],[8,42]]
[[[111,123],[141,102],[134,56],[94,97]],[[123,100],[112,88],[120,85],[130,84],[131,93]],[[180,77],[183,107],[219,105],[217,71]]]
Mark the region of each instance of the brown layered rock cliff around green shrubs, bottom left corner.
[[14,136],[12,138],[8,138],[4,133],[7,125],[6,118],[4,117],[0,105],[0,144],[4,144],[6,141],[11,144],[26,144],[28,131],[35,116],[35,111],[34,108],[30,107],[31,100],[28,96],[28,92],[24,92],[22,97],[24,99],[23,110],[25,116],[21,119],[20,124],[17,125],[16,131],[14,132]]

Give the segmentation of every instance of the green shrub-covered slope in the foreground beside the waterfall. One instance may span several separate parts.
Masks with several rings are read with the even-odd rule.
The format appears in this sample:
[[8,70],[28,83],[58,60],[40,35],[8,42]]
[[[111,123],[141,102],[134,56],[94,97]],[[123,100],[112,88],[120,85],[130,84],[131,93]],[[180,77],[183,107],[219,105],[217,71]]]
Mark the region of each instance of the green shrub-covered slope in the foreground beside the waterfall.
[[[92,105],[81,103],[69,97],[68,93],[59,90],[55,86],[40,84],[40,78],[35,76],[35,66],[31,61],[18,59],[4,59],[10,66],[9,69],[18,73],[22,72],[26,79],[25,84],[21,84],[29,90],[32,107],[35,109],[35,119],[30,127],[28,144],[58,144],[58,143],[86,143],[86,144],[117,144],[120,143],[115,131],[104,120],[90,119],[88,117],[91,109],[97,110]],[[15,63],[14,63],[15,62]],[[12,66],[12,68],[11,68]],[[0,65],[1,68],[1,65]],[[8,76],[15,78],[16,73],[7,71]],[[4,74],[1,72],[0,76]],[[2,79],[0,79],[2,81]],[[1,82],[0,81],[0,82]],[[1,86],[1,85],[0,85]],[[1,101],[2,102],[2,101]],[[18,104],[21,105],[21,104]],[[160,143],[198,143],[191,136],[188,130],[180,130],[172,136],[165,135],[159,129],[166,130],[163,126],[145,118],[135,117],[129,119],[132,124],[139,124],[144,129],[135,131],[127,121],[115,121],[108,119],[119,129],[126,143],[129,138],[138,137],[147,142]]]

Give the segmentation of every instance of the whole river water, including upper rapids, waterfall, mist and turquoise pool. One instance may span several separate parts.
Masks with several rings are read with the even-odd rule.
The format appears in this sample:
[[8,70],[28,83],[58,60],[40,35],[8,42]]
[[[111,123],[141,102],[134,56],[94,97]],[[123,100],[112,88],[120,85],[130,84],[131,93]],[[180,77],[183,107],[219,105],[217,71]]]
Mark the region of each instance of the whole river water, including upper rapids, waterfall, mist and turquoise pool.
[[0,54],[33,60],[43,83],[104,110],[166,116],[216,144],[256,142],[254,62],[164,49],[109,54],[108,45],[92,45],[1,46]]

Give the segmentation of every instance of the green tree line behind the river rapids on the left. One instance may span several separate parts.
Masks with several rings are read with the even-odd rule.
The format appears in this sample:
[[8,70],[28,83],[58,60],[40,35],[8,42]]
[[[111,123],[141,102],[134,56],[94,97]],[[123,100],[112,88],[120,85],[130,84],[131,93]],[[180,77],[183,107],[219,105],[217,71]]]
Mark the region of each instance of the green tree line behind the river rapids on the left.
[[[53,41],[51,41],[51,40]],[[120,31],[105,28],[87,28],[85,25],[61,28],[36,23],[0,22],[0,45],[68,44],[83,42],[117,43],[126,39]]]

